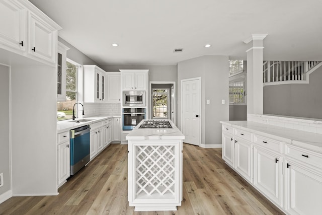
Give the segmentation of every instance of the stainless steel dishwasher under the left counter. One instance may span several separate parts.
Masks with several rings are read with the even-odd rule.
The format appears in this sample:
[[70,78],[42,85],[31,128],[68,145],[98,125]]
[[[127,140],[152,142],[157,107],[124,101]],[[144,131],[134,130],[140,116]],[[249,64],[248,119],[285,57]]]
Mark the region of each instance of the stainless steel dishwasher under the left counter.
[[90,162],[90,125],[70,130],[70,175]]

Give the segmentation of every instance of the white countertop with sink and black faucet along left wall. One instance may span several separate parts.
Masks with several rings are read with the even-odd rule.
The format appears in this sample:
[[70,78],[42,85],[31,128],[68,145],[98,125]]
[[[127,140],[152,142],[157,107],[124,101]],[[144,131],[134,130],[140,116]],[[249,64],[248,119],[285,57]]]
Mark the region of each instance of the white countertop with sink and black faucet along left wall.
[[71,120],[63,120],[57,122],[57,133],[65,132],[73,128],[81,127],[84,125],[90,125],[95,122],[99,122],[105,119],[113,118],[113,117],[120,117],[120,116],[92,116],[92,117],[86,117],[83,119],[87,119],[90,121],[87,122],[76,122],[77,119],[82,120],[82,118],[76,118],[74,122],[71,122]]

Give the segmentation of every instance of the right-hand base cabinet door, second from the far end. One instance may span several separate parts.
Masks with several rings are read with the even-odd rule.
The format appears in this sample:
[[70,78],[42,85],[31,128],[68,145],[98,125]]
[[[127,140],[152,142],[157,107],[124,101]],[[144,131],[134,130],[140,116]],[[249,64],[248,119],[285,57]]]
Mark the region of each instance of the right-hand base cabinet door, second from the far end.
[[253,182],[252,144],[235,137],[235,170],[245,179]]

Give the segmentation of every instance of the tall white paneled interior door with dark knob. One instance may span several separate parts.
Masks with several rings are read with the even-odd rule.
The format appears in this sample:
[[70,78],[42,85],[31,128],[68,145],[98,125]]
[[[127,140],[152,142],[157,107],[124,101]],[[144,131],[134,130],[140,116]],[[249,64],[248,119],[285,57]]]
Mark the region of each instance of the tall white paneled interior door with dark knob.
[[187,144],[200,145],[200,78],[181,80],[181,131]]

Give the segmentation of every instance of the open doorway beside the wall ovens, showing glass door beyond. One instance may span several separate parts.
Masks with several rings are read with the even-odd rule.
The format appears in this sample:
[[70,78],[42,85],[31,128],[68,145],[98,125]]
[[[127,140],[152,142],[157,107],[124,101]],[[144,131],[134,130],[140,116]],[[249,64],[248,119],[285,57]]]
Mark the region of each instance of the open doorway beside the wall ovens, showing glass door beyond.
[[149,119],[170,119],[176,124],[176,82],[150,82]]

